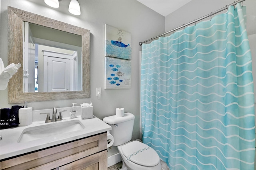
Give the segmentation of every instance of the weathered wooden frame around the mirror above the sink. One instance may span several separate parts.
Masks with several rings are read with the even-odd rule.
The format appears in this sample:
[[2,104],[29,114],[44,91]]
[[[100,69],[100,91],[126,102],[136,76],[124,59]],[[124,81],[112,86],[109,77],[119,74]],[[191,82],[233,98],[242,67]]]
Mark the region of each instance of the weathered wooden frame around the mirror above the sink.
[[[23,47],[24,21],[81,36],[81,91],[25,92],[23,53],[27,48]],[[44,52],[47,54],[49,51],[45,50]],[[8,83],[9,104],[22,103],[24,101],[39,102],[46,100],[90,98],[90,31],[87,29],[8,6],[8,64],[10,63],[21,63],[22,66]],[[77,65],[79,66],[79,64]],[[77,68],[77,70],[79,70],[79,68]],[[77,83],[79,84],[79,82]]]

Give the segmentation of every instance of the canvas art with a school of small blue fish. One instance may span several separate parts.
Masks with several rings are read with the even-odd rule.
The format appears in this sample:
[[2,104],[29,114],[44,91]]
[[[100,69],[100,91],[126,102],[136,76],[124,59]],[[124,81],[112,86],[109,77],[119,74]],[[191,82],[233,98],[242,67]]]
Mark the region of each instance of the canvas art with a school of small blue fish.
[[131,88],[132,62],[105,57],[105,89]]

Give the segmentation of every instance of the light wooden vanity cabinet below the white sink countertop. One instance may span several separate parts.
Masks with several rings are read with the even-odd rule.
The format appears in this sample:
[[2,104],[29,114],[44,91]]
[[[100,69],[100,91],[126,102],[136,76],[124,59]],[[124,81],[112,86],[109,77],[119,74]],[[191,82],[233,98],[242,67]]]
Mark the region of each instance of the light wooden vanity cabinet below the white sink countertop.
[[4,170],[107,170],[107,133],[0,162]]

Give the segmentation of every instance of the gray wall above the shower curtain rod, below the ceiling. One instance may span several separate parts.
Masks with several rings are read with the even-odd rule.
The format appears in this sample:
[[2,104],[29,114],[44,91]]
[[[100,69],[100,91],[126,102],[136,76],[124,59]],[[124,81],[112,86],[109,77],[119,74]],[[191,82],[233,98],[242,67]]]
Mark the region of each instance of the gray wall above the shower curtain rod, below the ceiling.
[[[176,27],[206,16],[232,3],[234,3],[234,0],[192,0],[165,17],[165,31],[175,29]],[[248,35],[255,34],[256,0],[246,0],[243,2],[243,5],[246,6]],[[224,12],[226,12],[226,10],[222,13]],[[210,20],[210,18],[206,18],[205,20]]]

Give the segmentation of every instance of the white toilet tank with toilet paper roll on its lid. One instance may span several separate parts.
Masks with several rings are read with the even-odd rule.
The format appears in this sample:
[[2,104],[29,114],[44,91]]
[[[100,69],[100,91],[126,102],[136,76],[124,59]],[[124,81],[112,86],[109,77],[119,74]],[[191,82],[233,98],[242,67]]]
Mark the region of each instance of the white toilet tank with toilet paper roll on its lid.
[[134,119],[135,116],[129,112],[124,113],[123,117],[113,115],[103,118],[112,127],[110,134],[114,137],[113,146],[122,145],[132,139]]

